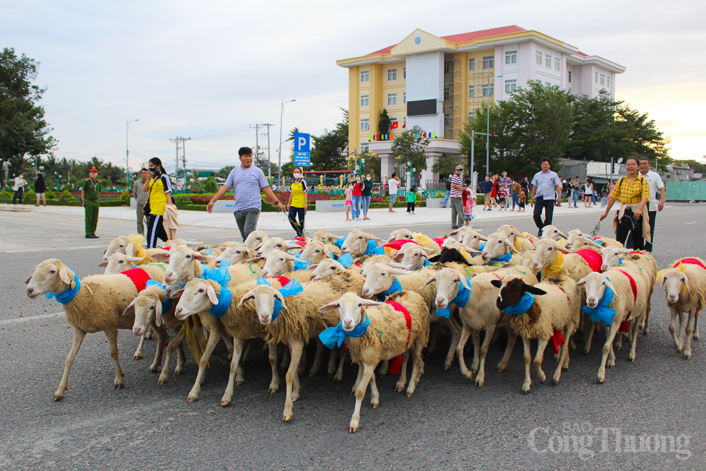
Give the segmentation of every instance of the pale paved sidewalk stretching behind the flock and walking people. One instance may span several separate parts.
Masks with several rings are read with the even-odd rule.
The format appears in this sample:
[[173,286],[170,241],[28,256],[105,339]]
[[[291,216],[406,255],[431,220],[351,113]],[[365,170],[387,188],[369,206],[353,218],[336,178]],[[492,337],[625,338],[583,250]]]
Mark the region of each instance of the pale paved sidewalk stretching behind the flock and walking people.
[[[83,216],[83,208],[74,206],[50,206],[47,208],[36,208],[37,213],[55,213]],[[592,208],[580,206],[577,209],[568,208],[567,203],[562,203],[558,208],[554,208],[554,215],[562,214],[585,214],[602,213],[600,205]],[[370,220],[346,221],[345,213],[317,213],[310,211],[306,213],[307,231],[335,230],[335,229],[357,229],[359,227],[385,227],[404,226],[419,224],[451,224],[450,208],[417,208],[414,215],[408,215],[406,208],[395,208],[395,213],[388,213],[387,209],[371,209],[368,211]],[[532,207],[527,205],[525,213],[511,212],[510,210],[499,211],[493,208],[492,211],[484,211],[480,206],[474,211],[479,220],[493,219],[514,219],[519,217],[532,217]],[[108,219],[135,220],[135,210],[131,208],[100,208],[100,217]],[[596,221],[598,218],[596,217]],[[222,229],[232,229],[236,227],[234,217],[231,213],[212,213],[205,211],[179,211],[179,224],[199,227],[217,227]],[[292,227],[287,221],[287,216],[283,213],[261,213],[258,221],[258,229],[263,230],[289,230]]]

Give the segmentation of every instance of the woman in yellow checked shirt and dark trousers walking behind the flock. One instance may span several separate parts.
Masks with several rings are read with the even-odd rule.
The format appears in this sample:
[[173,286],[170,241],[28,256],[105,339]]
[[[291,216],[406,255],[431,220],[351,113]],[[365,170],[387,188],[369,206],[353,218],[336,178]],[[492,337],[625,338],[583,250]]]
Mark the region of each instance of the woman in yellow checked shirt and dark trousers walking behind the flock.
[[601,215],[600,220],[608,217],[608,213],[616,201],[621,203],[620,210],[616,212],[613,221],[616,240],[626,245],[630,235],[633,237],[633,248],[644,250],[644,237],[650,237],[650,215],[647,214],[646,208],[647,203],[650,202],[650,181],[638,172],[639,165],[638,157],[628,157],[625,163],[628,175],[618,179],[613,193],[608,198],[606,211]]

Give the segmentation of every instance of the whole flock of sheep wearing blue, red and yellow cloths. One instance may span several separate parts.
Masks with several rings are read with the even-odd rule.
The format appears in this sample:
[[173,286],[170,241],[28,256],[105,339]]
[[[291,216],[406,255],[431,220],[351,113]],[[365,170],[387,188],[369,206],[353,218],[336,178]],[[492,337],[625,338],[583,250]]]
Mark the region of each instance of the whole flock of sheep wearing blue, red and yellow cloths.
[[[251,340],[264,338],[272,368],[270,393],[280,387],[278,366],[287,368],[283,419],[289,420],[307,363],[305,346],[315,340],[309,376],[320,369],[326,347],[331,349],[328,374],[335,381],[342,379],[347,360],[359,365],[349,424],[354,432],[368,386],[370,405],[378,407],[376,366],[382,362],[378,376],[400,374],[395,390],[412,395],[424,375],[422,350],[433,352],[443,330],[450,333],[445,368],[457,357],[461,373],[469,379],[475,375],[477,386],[484,386],[486,354],[498,331],[508,333],[498,371],[508,366],[515,341],[522,338],[522,393],[527,393],[532,384],[531,340],[537,340],[534,368],[542,382],[544,350],[551,345],[556,384],[568,369],[570,350],[575,350],[574,334],[582,334],[583,351],[588,353],[594,330],[604,326],[606,342],[597,373],[597,381],[603,382],[605,369],[615,366],[614,348],[621,348],[623,338],[629,342],[628,358],[635,360],[638,330],[647,334],[650,329],[650,299],[657,282],[662,282],[671,309],[674,346],[686,359],[691,356],[691,338],[699,338],[698,312],[706,306],[706,266],[699,258],[682,258],[658,272],[647,252],[624,249],[615,239],[590,237],[579,229],[565,234],[554,226],[545,227],[541,238],[503,225],[487,237],[462,227],[438,239],[400,229],[387,242],[358,229],[347,236],[320,231],[311,239],[292,241],[256,231],[244,243],[217,246],[177,239],[161,249],[145,250],[140,242],[133,234],[114,239],[100,263],[106,267],[103,275],[79,279],[51,258],[26,280],[28,297],[56,297],[74,328],[54,400],[64,398],[71,364],[86,333],[107,335],[116,388],[124,386],[118,329],[131,329],[141,337],[136,359],[143,355],[145,338],[157,336],[150,371],[162,366],[160,384],[168,381],[174,351],[174,374],[184,371],[186,340],[198,363],[189,403],[198,400],[211,356],[229,362],[229,381],[220,402],[224,406],[231,401],[234,384],[245,381],[243,364]],[[172,340],[168,330],[174,332]],[[469,337],[474,345],[470,368],[463,354]],[[220,340],[228,358],[214,350]]]

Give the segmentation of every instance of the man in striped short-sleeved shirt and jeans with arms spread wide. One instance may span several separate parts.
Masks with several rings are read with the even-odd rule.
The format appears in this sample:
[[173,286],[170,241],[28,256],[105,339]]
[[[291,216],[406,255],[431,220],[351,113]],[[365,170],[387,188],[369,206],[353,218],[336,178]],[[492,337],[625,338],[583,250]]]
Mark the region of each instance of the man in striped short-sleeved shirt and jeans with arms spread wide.
[[265,193],[273,205],[285,212],[287,208],[282,201],[277,199],[275,193],[270,188],[270,184],[265,178],[265,174],[259,167],[253,167],[253,150],[249,147],[241,147],[238,150],[240,166],[235,167],[228,174],[225,184],[211,198],[206,205],[206,212],[213,212],[213,205],[225,195],[229,189],[233,189],[235,200],[234,217],[240,229],[240,236],[243,242],[251,232],[258,228],[258,219],[263,207],[263,200],[260,191]]

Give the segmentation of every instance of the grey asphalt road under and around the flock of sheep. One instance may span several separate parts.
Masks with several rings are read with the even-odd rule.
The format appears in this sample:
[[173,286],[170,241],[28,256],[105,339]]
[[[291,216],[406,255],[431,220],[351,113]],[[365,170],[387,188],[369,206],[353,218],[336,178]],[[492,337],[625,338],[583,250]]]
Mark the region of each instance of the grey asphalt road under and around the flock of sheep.
[[[681,256],[705,257],[705,216],[704,205],[689,204],[671,205],[659,215],[654,255],[660,267]],[[555,223],[590,231],[596,219],[564,215]],[[501,223],[484,221],[479,227],[487,234]],[[513,224],[522,230],[534,227],[528,217]],[[661,292],[654,295],[650,335],[638,339],[636,362],[628,362],[625,350],[618,352],[616,369],[607,372],[602,385],[594,381],[598,343],[589,355],[572,354],[561,384],[535,382],[526,396],[520,394],[521,345],[503,374],[493,368],[501,359],[502,341],[491,346],[483,388],[463,378],[457,363],[444,371],[439,349],[426,357],[426,376],[412,398],[394,392],[395,378],[378,380],[381,406],[363,408],[357,434],[347,431],[354,406],[349,395],[353,366],[345,369],[340,384],[325,374],[302,377],[294,418],[283,423],[285,395],[267,393],[270,368],[259,348],[253,349],[247,382],[237,387],[230,407],[218,405],[228,371],[219,362],[208,371],[200,400],[187,404],[197,369],[193,360],[184,374],[157,386],[157,376],[148,371],[155,342],[148,342],[145,359],[133,361],[138,339],[129,331],[119,335],[124,389],[112,388],[106,338],[88,335],[66,398],[54,403],[72,331],[63,316],[52,316],[61,311],[59,304],[30,301],[23,281],[51,257],[81,276],[99,273],[97,261],[110,237],[133,230],[125,221],[102,220],[101,239],[90,241],[80,235],[82,227],[83,220],[73,216],[0,211],[0,303],[5,307],[0,311],[0,469],[706,469],[706,351],[702,340],[692,344],[693,359],[678,357]],[[396,228],[371,232],[385,236]],[[447,225],[416,229],[433,236],[450,230]],[[601,233],[609,235],[607,223]],[[184,227],[180,235],[222,242],[234,231]],[[551,355],[544,369],[553,369]],[[616,429],[623,441],[617,452]],[[647,440],[647,450],[626,451],[630,437],[638,450],[640,440]]]

